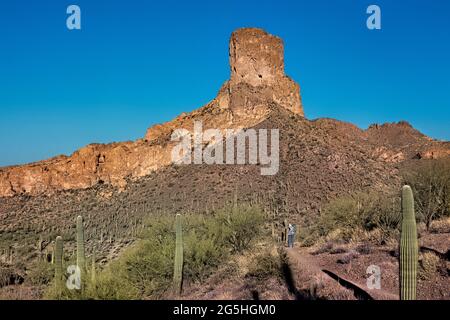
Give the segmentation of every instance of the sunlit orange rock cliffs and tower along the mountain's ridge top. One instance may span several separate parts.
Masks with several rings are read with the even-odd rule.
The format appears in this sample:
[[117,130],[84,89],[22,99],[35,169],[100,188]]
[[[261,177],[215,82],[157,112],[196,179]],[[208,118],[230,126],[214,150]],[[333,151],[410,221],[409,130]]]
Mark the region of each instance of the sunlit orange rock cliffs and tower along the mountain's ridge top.
[[[149,128],[145,137],[136,141],[90,144],[71,156],[0,168],[0,197],[52,194],[60,190],[86,189],[96,184],[124,189],[130,179],[169,166],[174,145],[170,140],[171,133],[178,128],[192,130],[194,121],[202,121],[204,129],[250,128],[262,123],[274,108],[278,108],[297,119],[298,126],[326,124],[339,127],[338,121],[318,123],[304,119],[300,87],[284,71],[284,47],[280,38],[261,29],[238,29],[231,35],[229,60],[230,79],[220,88],[217,97],[205,106]],[[348,130],[352,135],[360,136],[361,141],[373,141],[371,154],[376,161],[398,162],[412,156],[435,158],[450,154],[448,143],[426,138],[409,125],[373,126],[366,131],[343,127],[343,134]],[[297,144],[302,142],[296,139]],[[405,144],[399,144],[399,139],[404,139]],[[403,145],[411,145],[411,141],[417,142],[412,144],[413,149],[410,148],[413,154],[403,148]]]

